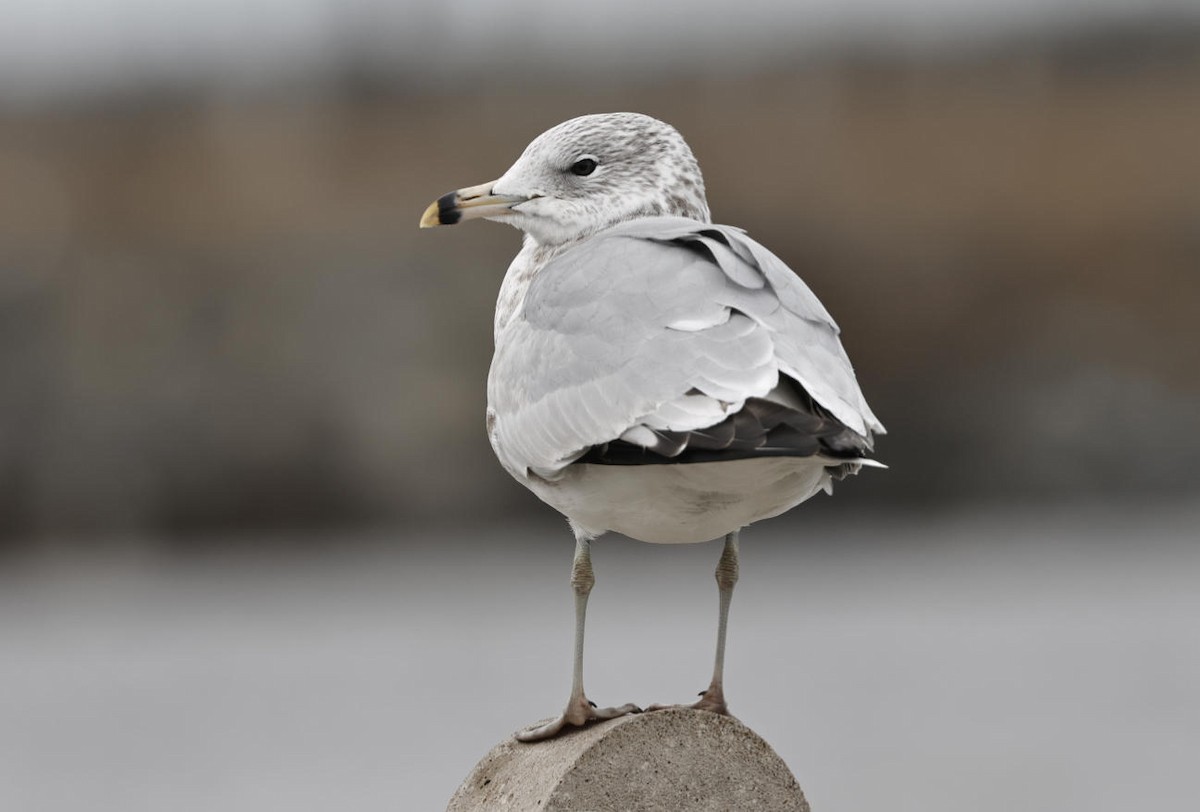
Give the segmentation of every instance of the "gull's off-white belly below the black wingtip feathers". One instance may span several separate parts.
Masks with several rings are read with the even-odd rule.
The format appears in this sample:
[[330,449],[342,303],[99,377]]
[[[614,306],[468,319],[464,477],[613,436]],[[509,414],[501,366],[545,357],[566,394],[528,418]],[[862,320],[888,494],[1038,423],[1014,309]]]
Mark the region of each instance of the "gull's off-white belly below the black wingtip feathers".
[[799,505],[829,481],[828,461],[769,457],[680,465],[570,465],[523,483],[589,536],[655,543],[718,539]]

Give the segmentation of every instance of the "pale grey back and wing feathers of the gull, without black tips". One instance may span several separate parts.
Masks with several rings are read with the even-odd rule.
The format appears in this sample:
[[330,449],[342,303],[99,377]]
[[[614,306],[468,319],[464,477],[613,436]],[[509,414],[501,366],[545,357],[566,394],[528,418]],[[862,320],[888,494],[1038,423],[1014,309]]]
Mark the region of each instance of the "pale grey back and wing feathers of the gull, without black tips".
[[665,446],[745,425],[764,401],[800,408],[781,385],[794,381],[869,449],[883,426],[838,333],[808,285],[739,229],[619,225],[547,264],[498,336],[492,444],[509,470],[546,479],[614,441],[678,453]]

